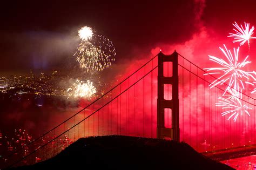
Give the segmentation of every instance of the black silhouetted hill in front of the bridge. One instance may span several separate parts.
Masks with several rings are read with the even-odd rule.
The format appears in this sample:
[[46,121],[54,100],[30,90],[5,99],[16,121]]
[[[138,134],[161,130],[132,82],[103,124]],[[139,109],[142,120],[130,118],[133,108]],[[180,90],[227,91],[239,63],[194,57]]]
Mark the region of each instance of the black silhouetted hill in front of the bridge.
[[105,136],[81,138],[56,157],[15,169],[233,169],[184,142]]

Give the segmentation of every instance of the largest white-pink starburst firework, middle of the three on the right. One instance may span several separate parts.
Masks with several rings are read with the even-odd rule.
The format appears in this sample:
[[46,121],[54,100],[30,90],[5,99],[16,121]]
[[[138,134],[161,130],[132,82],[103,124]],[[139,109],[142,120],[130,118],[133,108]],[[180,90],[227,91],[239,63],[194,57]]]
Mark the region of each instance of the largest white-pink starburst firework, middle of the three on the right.
[[227,50],[227,47],[225,46],[225,44],[224,44],[224,47],[225,47],[225,50],[222,49],[221,47],[219,48],[224,53],[227,61],[214,56],[209,56],[210,60],[220,64],[221,67],[206,68],[205,70],[214,71],[214,72],[205,73],[204,75],[222,74],[218,79],[214,80],[209,86],[212,88],[214,86],[217,86],[218,84],[222,85],[225,82],[228,82],[228,87],[226,88],[224,94],[230,87],[232,87],[235,90],[238,90],[241,88],[245,90],[244,83],[254,86],[254,84],[250,82],[251,80],[255,80],[255,77],[253,76],[253,74],[251,72],[246,72],[242,70],[247,64],[251,63],[250,61],[247,61],[248,56],[244,60],[239,62],[239,57],[238,57],[239,47],[236,50],[234,49],[234,56],[232,55],[230,50]]

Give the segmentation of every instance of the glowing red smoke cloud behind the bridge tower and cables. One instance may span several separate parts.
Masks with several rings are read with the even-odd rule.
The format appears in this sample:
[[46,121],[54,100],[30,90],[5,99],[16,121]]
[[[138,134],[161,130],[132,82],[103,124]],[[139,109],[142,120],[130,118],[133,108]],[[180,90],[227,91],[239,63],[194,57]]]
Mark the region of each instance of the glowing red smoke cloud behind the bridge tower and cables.
[[[203,9],[205,7],[204,1],[195,1],[197,5],[195,24],[198,26],[198,30],[194,32],[192,37],[187,37],[187,40],[182,43],[173,42],[172,44],[161,44],[157,46],[149,47],[150,50],[145,53],[151,52],[146,57],[138,54],[137,59],[126,60],[123,64],[112,65],[114,68],[110,73],[116,75],[114,77],[115,83],[112,87],[118,84],[120,81],[130,76],[140,66],[149,61],[153,56],[156,56],[160,49],[166,55],[170,55],[176,50],[180,55],[184,56],[190,62],[196,64],[201,69],[205,67],[216,66],[208,59],[208,55],[224,57],[219,46],[226,44],[228,49],[238,47],[239,44],[233,44],[231,38],[219,36],[210,27],[204,25],[201,22],[201,15],[203,15]],[[166,21],[170,22],[170,21]],[[231,21],[230,24],[232,24]],[[253,25],[253,24],[252,24]],[[188,28],[189,29],[189,28]],[[228,32],[232,30],[223,31]],[[175,33],[175,32],[174,32]],[[240,48],[240,57],[244,58],[250,55],[249,60],[253,70],[256,60],[253,58],[256,54],[254,49],[256,41],[252,40],[251,49],[248,50],[247,44]],[[139,58],[139,59],[138,59]],[[180,58],[180,57],[179,57]],[[234,147],[241,145],[248,145],[255,143],[255,109],[251,111],[251,117],[246,114],[242,117],[238,117],[238,120],[227,120],[227,116],[221,117],[221,108],[215,107],[215,103],[218,102],[217,97],[221,97],[223,91],[213,88],[209,89],[208,83],[201,80],[203,72],[197,69],[195,66],[191,66],[190,63],[184,62],[180,58],[179,64],[186,69],[192,71],[192,73],[182,69],[179,66],[179,109],[180,109],[180,139],[185,141],[198,151],[211,151],[214,149],[221,149],[225,147]],[[184,62],[184,65],[183,65]],[[122,85],[119,85],[111,93],[107,94],[107,97],[98,100],[94,105],[86,108],[83,112],[79,113],[76,117],[70,119],[67,123],[63,124],[54,133],[60,134],[61,132],[68,130],[79,123],[79,121],[86,118],[88,115],[97,111],[98,108],[105,105],[103,109],[93,114],[90,118],[87,118],[81,124],[72,128],[69,135],[73,135],[73,138],[79,138],[90,135],[107,135],[107,134],[123,134],[123,135],[136,135],[144,137],[156,138],[156,126],[157,126],[157,69],[149,73],[145,78],[140,80],[135,86],[132,86],[130,90],[124,92],[120,97],[114,99],[111,103],[108,101],[116,97],[120,92],[123,92],[127,87],[131,86],[138,79],[142,78],[145,73],[149,72],[157,65],[157,58],[153,60],[153,63],[149,63],[145,68],[134,74],[129,80],[126,80]],[[170,65],[169,65],[170,66]],[[171,74],[171,69],[167,70],[165,67],[164,72]],[[198,74],[198,77],[193,73]],[[168,73],[167,73],[168,74]],[[207,78],[209,80],[209,77]],[[165,93],[169,93],[171,87],[165,89]],[[111,89],[111,87],[109,87]],[[255,94],[254,94],[255,95]],[[250,94],[251,97],[254,95]],[[170,99],[171,94],[167,95],[166,99]],[[81,100],[80,108],[83,108],[91,103],[92,100]],[[245,101],[249,101],[245,98]],[[250,100],[250,103],[254,104],[254,101]],[[61,111],[60,114],[54,114],[51,117],[51,122],[48,122],[48,127],[53,127],[63,120],[67,119],[76,112],[76,109],[72,111]],[[63,114],[64,112],[64,114]],[[166,111],[166,127],[171,127],[171,112]]]

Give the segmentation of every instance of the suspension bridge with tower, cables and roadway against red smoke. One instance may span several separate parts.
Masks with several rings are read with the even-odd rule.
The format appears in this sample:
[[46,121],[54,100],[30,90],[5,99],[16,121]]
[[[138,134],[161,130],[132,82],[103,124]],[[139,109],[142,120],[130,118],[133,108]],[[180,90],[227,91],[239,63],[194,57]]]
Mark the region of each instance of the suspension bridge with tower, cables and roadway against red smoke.
[[255,99],[246,94],[241,99],[252,108],[251,117],[227,120],[215,104],[228,85],[210,87],[216,78],[205,73],[176,51],[160,52],[69,119],[11,153],[2,166],[35,164],[72,141],[101,135],[184,141],[215,160],[256,154]]

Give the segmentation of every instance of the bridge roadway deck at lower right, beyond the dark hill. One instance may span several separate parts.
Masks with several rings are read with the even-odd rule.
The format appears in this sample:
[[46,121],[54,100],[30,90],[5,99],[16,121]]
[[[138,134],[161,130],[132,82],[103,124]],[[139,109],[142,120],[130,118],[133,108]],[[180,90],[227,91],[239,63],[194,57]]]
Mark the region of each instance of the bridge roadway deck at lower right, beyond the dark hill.
[[256,154],[256,144],[202,152],[202,154],[216,161],[248,157]]

